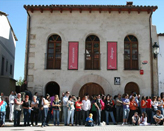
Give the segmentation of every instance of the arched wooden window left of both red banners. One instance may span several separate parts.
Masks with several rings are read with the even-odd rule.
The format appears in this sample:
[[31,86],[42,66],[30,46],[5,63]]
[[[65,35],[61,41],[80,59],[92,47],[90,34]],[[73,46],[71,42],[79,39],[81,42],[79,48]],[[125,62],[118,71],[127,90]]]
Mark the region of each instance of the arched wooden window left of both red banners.
[[61,69],[61,37],[52,35],[48,39],[47,69]]

